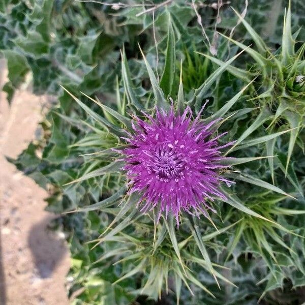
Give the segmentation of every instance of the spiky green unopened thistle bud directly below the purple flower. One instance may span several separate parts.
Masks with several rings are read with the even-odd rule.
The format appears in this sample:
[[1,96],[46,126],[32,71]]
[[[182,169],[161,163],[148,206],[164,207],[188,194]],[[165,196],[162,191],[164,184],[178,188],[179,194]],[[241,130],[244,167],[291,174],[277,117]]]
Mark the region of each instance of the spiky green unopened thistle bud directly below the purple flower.
[[[165,217],[162,218],[162,220],[164,219]],[[223,228],[222,232],[225,232],[235,225],[236,223]],[[183,282],[193,296],[194,292],[191,288],[191,284],[195,284],[199,289],[202,289],[205,293],[214,298],[214,294],[196,278],[192,270],[194,266],[196,266],[196,268],[203,268],[207,272],[207,277],[209,277],[210,281],[213,281],[212,277],[210,275],[208,276],[210,270],[206,261],[202,259],[196,251],[194,253],[190,252],[190,249],[194,247],[194,242],[188,237],[178,243],[177,246],[180,251],[179,260],[172,247],[172,241],[166,232],[166,222],[160,221],[158,223],[155,237],[154,226],[151,226],[151,223],[149,224],[147,221],[134,223],[134,230],[132,233],[120,234],[119,236],[112,236],[108,239],[108,242],[115,241],[119,246],[112,251],[105,252],[96,263],[113,257],[116,259],[114,265],[122,264],[124,262],[132,263],[133,267],[126,270],[126,272],[117,279],[115,284],[120,283],[129,277],[139,276],[139,273],[142,273],[144,275],[141,277],[142,285],[137,291],[137,293],[141,295],[149,295],[150,297],[157,299],[158,297],[161,297],[161,293],[164,290],[166,293],[169,293],[169,291],[172,290],[175,291],[177,302],[179,303],[180,290]],[[215,237],[215,232],[206,234],[204,236],[204,241],[208,242],[213,237]],[[154,243],[151,243],[151,240],[154,240],[154,238]],[[180,261],[183,262],[183,265],[181,265]],[[221,271],[226,269],[225,267],[216,263],[212,263],[212,266],[218,269],[214,270],[217,279],[235,286],[222,275]]]

